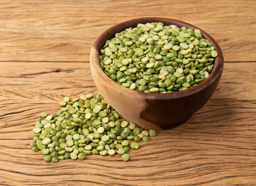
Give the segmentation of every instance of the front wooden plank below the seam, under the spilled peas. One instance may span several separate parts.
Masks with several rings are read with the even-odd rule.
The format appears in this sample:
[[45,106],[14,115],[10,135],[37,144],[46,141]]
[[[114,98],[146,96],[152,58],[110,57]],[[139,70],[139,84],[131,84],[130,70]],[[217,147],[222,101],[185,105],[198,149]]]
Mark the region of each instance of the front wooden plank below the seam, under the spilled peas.
[[63,96],[97,93],[89,63],[1,64],[2,185],[256,184],[256,81],[233,78],[240,73],[255,80],[256,63],[226,63],[207,104],[183,125],[158,131],[139,150],[130,150],[130,161],[88,155],[58,163],[45,163],[31,150],[32,129],[40,112],[58,111]]

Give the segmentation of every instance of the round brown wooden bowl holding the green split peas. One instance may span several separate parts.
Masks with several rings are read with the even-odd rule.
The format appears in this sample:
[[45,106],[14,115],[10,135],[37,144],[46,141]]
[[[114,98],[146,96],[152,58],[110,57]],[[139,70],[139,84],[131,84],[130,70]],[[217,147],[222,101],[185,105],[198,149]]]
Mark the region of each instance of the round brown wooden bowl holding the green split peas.
[[201,30],[203,38],[208,39],[218,56],[215,58],[213,71],[202,83],[187,90],[173,93],[144,93],[130,90],[112,81],[101,69],[99,55],[106,40],[138,23],[162,22],[164,25],[177,25],[199,29],[194,25],[168,18],[138,18],[115,25],[99,36],[90,52],[90,67],[92,77],[99,92],[108,103],[127,121],[144,129],[169,129],[185,123],[195,112],[210,99],[222,75],[224,59],[218,43],[205,31]]

